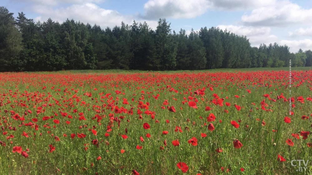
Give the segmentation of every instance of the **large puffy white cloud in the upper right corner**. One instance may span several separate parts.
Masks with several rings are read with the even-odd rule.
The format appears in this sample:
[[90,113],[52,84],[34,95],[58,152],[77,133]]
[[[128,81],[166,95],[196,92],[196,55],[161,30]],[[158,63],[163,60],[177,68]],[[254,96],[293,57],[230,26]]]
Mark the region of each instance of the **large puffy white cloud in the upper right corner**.
[[288,26],[292,24],[311,23],[312,9],[304,9],[288,0],[278,1],[272,6],[252,10],[251,14],[243,15],[245,25]]

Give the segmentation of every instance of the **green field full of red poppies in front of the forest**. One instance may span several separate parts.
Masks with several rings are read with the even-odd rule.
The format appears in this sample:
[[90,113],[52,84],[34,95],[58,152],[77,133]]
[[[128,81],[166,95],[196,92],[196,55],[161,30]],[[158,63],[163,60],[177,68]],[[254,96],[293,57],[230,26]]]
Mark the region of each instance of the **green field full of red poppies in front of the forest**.
[[312,71],[291,75],[0,73],[0,174],[311,174],[291,160],[311,160]]

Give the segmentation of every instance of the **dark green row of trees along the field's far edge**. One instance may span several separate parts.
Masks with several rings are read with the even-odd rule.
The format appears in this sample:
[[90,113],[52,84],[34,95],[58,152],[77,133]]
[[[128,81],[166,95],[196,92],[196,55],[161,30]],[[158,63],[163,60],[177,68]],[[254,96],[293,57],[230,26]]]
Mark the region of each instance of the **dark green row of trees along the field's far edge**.
[[312,66],[311,50],[290,53],[276,43],[251,47],[246,36],[216,27],[187,35],[166,19],[149,25],[101,29],[67,19],[35,22],[0,7],[0,71],[69,69],[197,70],[214,68]]

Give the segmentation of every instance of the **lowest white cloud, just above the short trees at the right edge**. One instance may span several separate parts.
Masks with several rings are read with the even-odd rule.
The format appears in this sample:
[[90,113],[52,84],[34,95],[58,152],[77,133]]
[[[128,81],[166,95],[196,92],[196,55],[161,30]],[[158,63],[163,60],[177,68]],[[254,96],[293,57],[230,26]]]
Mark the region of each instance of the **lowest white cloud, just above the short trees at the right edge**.
[[311,39],[302,39],[302,40],[281,40],[281,45],[287,45],[290,52],[298,52],[301,48],[303,51],[312,50],[312,40]]

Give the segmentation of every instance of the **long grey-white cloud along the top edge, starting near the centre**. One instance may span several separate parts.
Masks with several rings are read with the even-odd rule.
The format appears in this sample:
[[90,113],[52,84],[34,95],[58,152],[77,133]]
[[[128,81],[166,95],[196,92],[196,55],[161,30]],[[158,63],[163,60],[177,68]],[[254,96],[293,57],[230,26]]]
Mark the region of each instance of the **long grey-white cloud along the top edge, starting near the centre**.
[[276,0],[149,0],[144,4],[146,19],[195,18],[208,9],[250,10],[272,5]]

